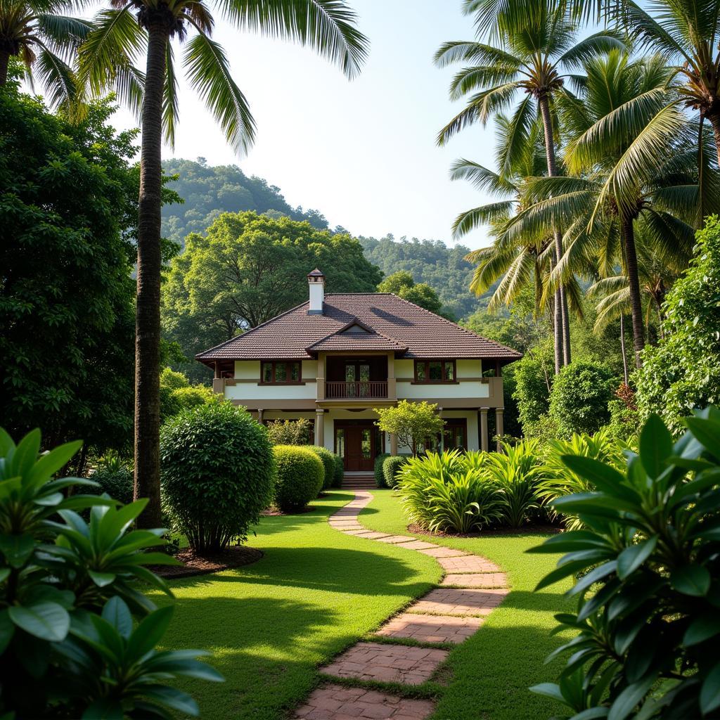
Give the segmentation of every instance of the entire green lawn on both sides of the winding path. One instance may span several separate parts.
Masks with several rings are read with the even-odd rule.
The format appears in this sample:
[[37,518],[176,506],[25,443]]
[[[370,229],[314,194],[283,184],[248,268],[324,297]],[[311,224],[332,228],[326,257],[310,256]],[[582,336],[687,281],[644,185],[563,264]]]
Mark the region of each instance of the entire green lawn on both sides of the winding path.
[[[441,577],[431,557],[330,528],[328,515],[350,499],[348,492],[333,492],[315,501],[311,513],[263,518],[248,541],[264,551],[261,561],[171,583],[177,603],[167,646],[210,650],[213,665],[227,678],[222,685],[184,685],[205,720],[281,720],[318,683],[318,666]],[[389,490],[375,492],[361,522],[407,534]],[[452,679],[438,693],[436,720],[541,719],[557,710],[552,701],[527,691],[528,685],[554,678],[557,665],[543,661],[559,642],[548,631],[564,603],[559,594],[564,588],[531,592],[554,564],[552,557],[523,554],[541,539],[529,534],[433,539],[494,560],[508,572],[512,587],[482,629],[451,652]]]

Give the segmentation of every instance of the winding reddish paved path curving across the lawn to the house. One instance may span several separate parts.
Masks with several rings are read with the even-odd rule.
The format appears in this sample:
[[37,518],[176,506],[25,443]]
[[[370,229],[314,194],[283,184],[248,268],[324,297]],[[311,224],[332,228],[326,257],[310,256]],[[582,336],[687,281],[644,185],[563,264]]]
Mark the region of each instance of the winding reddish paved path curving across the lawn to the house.
[[[420,685],[431,680],[446,659],[450,644],[474,634],[483,619],[505,598],[507,578],[489,560],[463,550],[441,547],[407,535],[368,530],[358,516],[372,493],[354,490],[355,498],[330,516],[330,526],[348,535],[392,543],[437,559],[445,576],[437,588],[390,618],[375,634],[379,642],[356,643],[320,668],[330,682],[314,690],[297,708],[298,720],[424,720],[433,701],[404,698],[392,691],[368,689],[378,683]],[[397,644],[392,640],[397,639]],[[382,642],[381,642],[382,641]],[[404,642],[403,642],[404,641]],[[356,681],[344,685],[333,678]],[[388,688],[390,690],[390,688]]]

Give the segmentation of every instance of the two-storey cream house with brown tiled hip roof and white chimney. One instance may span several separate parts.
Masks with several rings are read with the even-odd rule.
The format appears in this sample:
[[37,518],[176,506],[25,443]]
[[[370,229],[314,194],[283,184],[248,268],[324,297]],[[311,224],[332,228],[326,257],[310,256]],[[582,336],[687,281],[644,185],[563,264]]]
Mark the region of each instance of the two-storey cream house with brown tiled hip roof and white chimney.
[[325,294],[307,276],[308,302],[197,355],[213,389],[261,422],[308,418],[314,442],[348,472],[372,470],[398,448],[373,408],[427,400],[445,420],[445,448],[487,449],[487,413],[503,433],[505,364],[521,354],[390,293]]

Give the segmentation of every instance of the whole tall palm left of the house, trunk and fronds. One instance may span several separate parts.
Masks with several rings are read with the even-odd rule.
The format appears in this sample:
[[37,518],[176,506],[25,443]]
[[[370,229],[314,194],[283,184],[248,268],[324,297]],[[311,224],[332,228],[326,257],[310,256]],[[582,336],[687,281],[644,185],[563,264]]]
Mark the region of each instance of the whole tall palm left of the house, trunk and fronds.
[[[202,0],[111,0],[79,53],[79,76],[96,94],[117,89],[140,110],[138,294],[135,340],[135,496],[150,498],[145,526],[160,521],[159,376],[161,284],[161,145],[174,139],[178,94],[174,41],[183,49],[189,84],[204,99],[235,150],[253,142],[255,122],[233,81],[214,19]],[[246,30],[310,45],[349,78],[367,53],[367,40],[344,0],[227,0],[223,17]],[[191,35],[192,33],[192,35]],[[135,60],[146,53],[143,77]]]

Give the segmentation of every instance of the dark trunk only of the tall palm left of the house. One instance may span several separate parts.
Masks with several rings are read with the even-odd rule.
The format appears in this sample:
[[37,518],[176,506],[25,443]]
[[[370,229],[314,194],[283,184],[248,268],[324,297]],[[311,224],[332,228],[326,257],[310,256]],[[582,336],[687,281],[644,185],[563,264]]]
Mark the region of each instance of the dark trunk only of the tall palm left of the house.
[[161,526],[160,508],[160,210],[166,22],[148,27],[148,66],[140,145],[138,301],[135,320],[135,498],[148,498],[138,526]]

